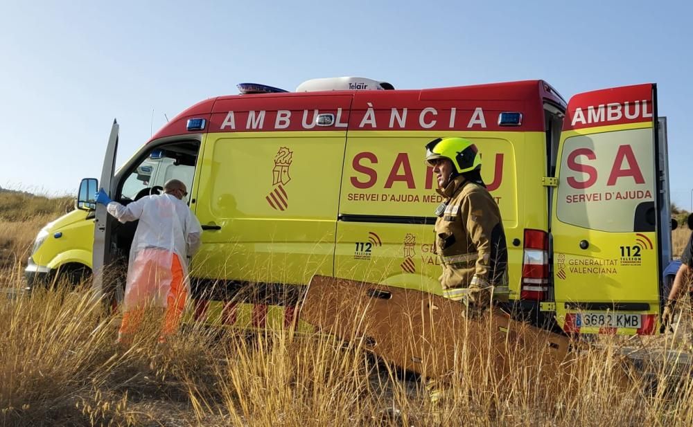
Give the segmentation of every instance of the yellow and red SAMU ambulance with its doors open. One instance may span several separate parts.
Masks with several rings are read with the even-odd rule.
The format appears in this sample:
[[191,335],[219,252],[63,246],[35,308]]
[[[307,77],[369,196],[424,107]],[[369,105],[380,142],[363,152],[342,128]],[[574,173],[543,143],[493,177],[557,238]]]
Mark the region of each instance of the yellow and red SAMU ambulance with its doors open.
[[516,308],[568,333],[658,330],[671,223],[656,85],[568,103],[543,80],[239,88],[180,113],[117,172],[114,123],[100,181],[83,180],[79,209],[37,237],[30,283],[128,259],[137,224],[94,206],[97,187],[128,203],[177,178],[204,229],[191,262],[198,320],[288,324],[315,274],[441,293],[432,253],[441,197],[424,146],[462,136],[479,147],[502,212]]

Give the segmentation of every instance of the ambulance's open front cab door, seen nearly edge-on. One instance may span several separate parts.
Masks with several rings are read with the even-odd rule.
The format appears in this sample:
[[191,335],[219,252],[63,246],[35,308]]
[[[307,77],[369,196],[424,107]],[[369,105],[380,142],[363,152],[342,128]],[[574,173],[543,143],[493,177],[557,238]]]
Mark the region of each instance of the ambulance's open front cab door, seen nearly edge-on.
[[[113,172],[116,163],[116,152],[118,150],[118,132],[120,126],[116,120],[113,120],[113,126],[111,127],[111,134],[108,137],[108,145],[106,146],[106,154],[103,158],[103,168],[101,169],[101,179],[98,182],[98,186],[103,188],[109,197],[113,197],[113,189],[111,188]],[[103,295],[103,266],[107,264],[110,260],[106,259],[106,247],[108,242],[107,236],[109,236],[107,230],[108,224],[108,213],[106,212],[106,207],[100,204],[96,205],[96,217],[94,220],[94,249],[92,252],[92,269],[94,271],[94,282],[92,286],[96,292],[97,297]]]

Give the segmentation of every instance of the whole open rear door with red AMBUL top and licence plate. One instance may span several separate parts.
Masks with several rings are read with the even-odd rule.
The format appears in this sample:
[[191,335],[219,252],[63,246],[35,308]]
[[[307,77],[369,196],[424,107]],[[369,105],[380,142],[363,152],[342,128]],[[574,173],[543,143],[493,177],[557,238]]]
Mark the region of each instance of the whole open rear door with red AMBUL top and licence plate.
[[567,332],[656,331],[656,111],[654,84],[580,93],[568,103],[552,209],[556,320]]

